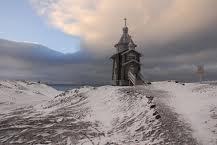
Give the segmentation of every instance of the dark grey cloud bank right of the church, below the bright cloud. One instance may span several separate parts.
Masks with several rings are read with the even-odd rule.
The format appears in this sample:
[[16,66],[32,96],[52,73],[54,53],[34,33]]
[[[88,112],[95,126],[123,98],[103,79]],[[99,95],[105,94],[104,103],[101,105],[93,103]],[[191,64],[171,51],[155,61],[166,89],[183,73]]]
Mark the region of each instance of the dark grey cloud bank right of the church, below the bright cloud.
[[217,25],[162,44],[144,44],[144,47],[148,49],[140,51],[144,55],[143,73],[147,79],[197,81],[197,65],[204,65],[206,80],[217,79]]

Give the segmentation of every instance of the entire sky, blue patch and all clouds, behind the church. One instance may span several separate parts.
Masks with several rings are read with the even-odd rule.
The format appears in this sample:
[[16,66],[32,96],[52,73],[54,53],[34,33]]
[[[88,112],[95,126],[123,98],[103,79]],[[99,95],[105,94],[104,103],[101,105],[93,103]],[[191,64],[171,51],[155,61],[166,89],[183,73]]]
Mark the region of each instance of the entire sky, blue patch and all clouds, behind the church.
[[143,54],[145,79],[196,81],[197,65],[204,65],[206,80],[217,79],[216,0],[0,3],[0,39],[40,44],[0,41],[0,59],[7,60],[7,66],[0,63],[1,79],[109,82],[109,56],[116,51],[125,17]]

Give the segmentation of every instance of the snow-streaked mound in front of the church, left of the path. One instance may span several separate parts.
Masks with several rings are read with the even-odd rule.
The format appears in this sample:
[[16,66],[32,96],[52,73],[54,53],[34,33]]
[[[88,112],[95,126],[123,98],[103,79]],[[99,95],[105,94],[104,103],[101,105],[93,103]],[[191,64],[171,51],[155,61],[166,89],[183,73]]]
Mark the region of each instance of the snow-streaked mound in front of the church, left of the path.
[[0,143],[165,144],[166,131],[160,127],[159,115],[141,89],[84,87],[3,115]]

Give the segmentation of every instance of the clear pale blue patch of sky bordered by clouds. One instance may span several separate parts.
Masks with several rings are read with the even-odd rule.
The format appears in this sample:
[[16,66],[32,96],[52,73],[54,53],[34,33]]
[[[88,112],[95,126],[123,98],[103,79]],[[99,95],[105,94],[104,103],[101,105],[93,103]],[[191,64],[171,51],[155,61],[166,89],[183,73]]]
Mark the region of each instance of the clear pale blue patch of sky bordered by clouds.
[[79,36],[62,33],[39,17],[28,0],[1,0],[0,38],[43,44],[63,53],[80,48]]

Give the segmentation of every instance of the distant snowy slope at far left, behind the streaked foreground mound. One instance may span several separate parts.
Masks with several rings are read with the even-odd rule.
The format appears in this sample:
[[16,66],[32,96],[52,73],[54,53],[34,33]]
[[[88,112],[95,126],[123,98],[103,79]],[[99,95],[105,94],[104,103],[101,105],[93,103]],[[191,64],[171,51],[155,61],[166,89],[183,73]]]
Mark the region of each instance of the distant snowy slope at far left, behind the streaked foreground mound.
[[0,113],[49,100],[60,92],[30,81],[0,81]]

